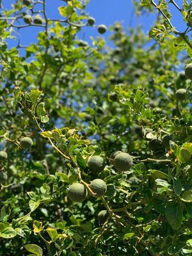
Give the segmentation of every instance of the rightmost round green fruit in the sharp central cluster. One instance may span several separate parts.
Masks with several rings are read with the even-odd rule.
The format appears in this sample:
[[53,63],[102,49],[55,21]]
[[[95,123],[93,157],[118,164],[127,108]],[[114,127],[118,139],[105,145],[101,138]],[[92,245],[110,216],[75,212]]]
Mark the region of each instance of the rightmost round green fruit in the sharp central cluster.
[[127,153],[120,153],[114,159],[114,166],[120,172],[128,171],[132,166],[132,157]]

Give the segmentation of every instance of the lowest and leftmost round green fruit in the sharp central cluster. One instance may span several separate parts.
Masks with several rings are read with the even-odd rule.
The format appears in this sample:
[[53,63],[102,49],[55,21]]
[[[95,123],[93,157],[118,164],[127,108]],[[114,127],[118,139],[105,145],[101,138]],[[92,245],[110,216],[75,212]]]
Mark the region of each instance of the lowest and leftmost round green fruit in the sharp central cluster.
[[83,202],[86,196],[87,190],[81,183],[74,183],[68,188],[68,197],[74,202]]

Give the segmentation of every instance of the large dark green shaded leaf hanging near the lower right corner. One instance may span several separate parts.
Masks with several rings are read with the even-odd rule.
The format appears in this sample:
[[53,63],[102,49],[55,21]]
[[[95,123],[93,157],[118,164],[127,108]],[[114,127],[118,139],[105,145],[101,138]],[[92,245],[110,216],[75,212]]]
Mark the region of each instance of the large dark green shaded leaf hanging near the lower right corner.
[[182,222],[182,207],[175,202],[169,202],[165,209],[165,216],[173,229],[178,229]]

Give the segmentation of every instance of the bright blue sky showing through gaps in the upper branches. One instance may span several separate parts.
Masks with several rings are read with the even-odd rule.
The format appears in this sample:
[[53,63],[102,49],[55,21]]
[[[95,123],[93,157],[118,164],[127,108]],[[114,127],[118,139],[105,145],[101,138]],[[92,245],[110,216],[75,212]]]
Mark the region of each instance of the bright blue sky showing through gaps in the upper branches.
[[[4,8],[9,8],[12,3],[15,3],[15,0],[3,0]],[[61,6],[62,3],[63,2],[60,0],[47,0],[47,16],[52,19],[60,19],[58,7]],[[182,0],[178,0],[177,3],[181,6]],[[173,25],[176,26],[179,31],[184,31],[185,26],[179,11],[175,10],[172,5],[170,5],[170,10],[173,13]],[[156,13],[150,15],[146,14],[142,17],[133,15],[134,7],[132,0],[90,0],[86,12],[88,12],[90,16],[95,17],[97,24],[106,24],[106,26],[110,26],[116,20],[121,21],[125,28],[140,24],[145,33],[148,33],[148,30],[154,24],[156,18]],[[31,42],[36,42],[38,31],[40,31],[40,29],[34,27],[21,29],[20,43],[29,45]],[[83,28],[80,34],[81,38],[84,40],[89,40],[90,36],[96,37],[98,35],[97,29],[93,28]],[[104,35],[106,39],[108,36],[109,32]],[[12,40],[9,40],[9,44],[10,47],[14,45]]]

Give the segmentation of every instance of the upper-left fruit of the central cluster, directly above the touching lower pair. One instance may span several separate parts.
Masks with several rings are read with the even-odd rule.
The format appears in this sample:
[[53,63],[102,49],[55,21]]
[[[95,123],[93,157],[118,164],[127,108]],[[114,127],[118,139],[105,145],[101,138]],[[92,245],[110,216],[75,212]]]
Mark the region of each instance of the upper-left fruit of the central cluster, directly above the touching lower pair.
[[104,170],[104,159],[101,156],[92,156],[88,159],[88,169],[92,173],[99,173]]

